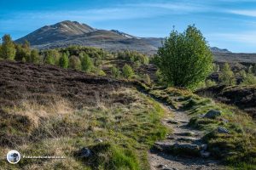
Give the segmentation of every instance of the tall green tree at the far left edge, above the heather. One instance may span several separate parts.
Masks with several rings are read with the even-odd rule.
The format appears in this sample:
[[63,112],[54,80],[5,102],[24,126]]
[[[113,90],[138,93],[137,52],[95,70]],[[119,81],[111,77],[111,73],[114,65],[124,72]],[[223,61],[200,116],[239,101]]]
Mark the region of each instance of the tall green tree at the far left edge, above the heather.
[[14,60],[16,50],[12,38],[9,35],[4,35],[2,41],[0,58]]

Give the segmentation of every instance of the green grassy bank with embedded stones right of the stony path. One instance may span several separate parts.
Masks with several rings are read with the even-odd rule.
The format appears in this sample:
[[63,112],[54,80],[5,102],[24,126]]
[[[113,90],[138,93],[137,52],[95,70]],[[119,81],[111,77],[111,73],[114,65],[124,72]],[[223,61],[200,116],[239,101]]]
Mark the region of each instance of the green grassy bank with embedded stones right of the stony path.
[[[203,139],[212,156],[231,168],[256,169],[256,123],[246,113],[183,89],[156,88],[149,93],[186,112],[191,117],[189,126],[204,131]],[[212,109],[221,111],[221,116],[204,118],[203,115]],[[218,133],[217,127],[225,127],[230,133]]]

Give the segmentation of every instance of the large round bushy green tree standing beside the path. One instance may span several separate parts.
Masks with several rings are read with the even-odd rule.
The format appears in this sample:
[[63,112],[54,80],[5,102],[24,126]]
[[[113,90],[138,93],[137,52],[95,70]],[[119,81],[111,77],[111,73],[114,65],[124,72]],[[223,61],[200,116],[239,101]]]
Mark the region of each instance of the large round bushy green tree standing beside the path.
[[212,53],[195,26],[183,33],[172,31],[158,50],[156,64],[169,85],[195,88],[212,71]]

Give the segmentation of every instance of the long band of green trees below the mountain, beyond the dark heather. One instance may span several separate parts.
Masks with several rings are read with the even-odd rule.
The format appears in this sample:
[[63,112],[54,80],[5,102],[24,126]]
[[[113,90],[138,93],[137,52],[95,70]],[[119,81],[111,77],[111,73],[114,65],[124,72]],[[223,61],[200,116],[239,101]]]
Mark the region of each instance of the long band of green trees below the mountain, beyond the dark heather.
[[[129,50],[109,53],[101,48],[69,46],[38,51],[38,49],[31,48],[27,41],[22,44],[13,42],[9,35],[4,35],[2,44],[0,44],[0,59],[56,65],[101,76],[106,76],[106,73],[102,71],[102,59],[112,58],[125,59],[137,66],[148,64],[147,55]],[[136,76],[136,72],[129,64],[125,64],[121,69],[113,65],[110,70],[111,77],[114,78],[130,79]],[[146,82],[151,82],[148,75],[143,75],[144,77]]]

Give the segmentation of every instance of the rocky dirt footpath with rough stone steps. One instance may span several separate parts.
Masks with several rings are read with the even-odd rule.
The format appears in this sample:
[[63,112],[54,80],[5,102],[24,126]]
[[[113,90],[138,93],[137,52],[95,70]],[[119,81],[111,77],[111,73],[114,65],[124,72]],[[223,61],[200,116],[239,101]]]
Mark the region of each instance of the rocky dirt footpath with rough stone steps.
[[167,105],[164,109],[172,111],[173,116],[162,120],[173,129],[163,141],[154,144],[148,159],[152,170],[199,170],[225,169],[212,160],[207,152],[207,144],[201,140],[203,133],[188,126],[189,116],[183,111],[175,111]]

